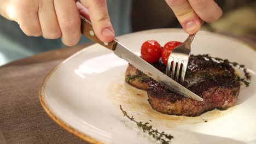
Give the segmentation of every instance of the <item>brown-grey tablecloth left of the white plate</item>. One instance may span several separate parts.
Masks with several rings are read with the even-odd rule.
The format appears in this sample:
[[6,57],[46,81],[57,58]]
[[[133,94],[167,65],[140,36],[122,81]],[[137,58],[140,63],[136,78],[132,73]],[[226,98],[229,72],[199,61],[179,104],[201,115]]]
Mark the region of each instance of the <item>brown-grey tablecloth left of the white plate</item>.
[[40,105],[39,87],[59,61],[0,68],[0,143],[85,143]]

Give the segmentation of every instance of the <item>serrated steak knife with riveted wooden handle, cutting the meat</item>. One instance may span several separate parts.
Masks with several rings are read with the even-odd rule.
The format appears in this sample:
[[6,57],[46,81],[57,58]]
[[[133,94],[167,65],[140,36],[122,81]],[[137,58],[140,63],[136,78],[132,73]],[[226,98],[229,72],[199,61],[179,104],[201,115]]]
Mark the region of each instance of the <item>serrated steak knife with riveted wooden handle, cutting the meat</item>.
[[178,82],[172,80],[170,77],[162,73],[160,70],[153,67],[153,65],[144,61],[141,57],[137,56],[135,53],[131,52],[124,45],[119,43],[117,39],[114,39],[110,43],[104,43],[94,33],[94,29],[92,29],[91,22],[86,20],[83,16],[81,16],[81,31],[85,37],[95,41],[96,43],[107,47],[109,50],[112,50],[115,55],[129,62],[133,67],[141,70],[144,74],[148,75],[155,81],[161,83],[161,85],[167,87],[171,91],[174,91],[178,94],[184,95],[185,97],[202,101],[203,99],[191,92],[189,89],[183,87]]

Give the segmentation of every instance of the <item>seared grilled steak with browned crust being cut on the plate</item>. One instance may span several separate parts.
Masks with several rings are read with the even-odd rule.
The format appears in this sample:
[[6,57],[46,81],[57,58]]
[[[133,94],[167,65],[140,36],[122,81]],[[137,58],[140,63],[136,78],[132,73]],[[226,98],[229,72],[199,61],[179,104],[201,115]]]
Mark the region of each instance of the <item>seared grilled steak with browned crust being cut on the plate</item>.
[[[162,72],[166,69],[160,61],[153,65]],[[132,65],[126,70],[126,81],[148,92],[148,101],[154,110],[170,115],[193,117],[215,108],[226,110],[234,105],[240,91],[240,82],[236,81],[235,77],[235,70],[231,65],[210,61],[201,55],[192,55],[184,87],[203,98],[203,101],[197,101],[165,89]]]

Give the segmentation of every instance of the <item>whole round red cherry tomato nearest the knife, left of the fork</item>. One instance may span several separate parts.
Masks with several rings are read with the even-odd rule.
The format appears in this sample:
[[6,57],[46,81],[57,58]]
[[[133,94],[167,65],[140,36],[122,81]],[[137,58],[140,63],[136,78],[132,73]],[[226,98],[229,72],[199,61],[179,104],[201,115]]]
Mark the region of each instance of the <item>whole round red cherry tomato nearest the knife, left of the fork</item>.
[[141,57],[148,63],[158,62],[162,55],[162,49],[158,41],[148,40],[141,46]]

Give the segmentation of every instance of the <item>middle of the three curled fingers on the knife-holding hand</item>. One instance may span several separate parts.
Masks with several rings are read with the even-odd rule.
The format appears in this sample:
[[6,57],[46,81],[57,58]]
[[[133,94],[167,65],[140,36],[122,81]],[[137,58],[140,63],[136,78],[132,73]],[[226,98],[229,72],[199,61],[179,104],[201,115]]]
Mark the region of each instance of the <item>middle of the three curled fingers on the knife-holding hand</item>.
[[61,37],[61,29],[55,14],[53,0],[44,0],[39,4],[39,21],[46,39],[57,39]]

